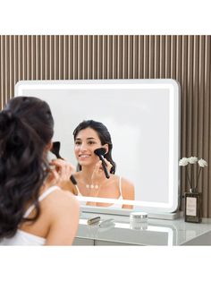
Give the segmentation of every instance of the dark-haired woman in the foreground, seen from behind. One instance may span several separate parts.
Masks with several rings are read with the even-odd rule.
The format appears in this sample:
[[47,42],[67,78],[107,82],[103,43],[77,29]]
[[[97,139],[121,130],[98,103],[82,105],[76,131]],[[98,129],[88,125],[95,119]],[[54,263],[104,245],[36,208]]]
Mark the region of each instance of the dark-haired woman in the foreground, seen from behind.
[[54,120],[45,101],[17,97],[0,112],[0,245],[71,245],[79,203],[63,191],[72,165],[48,165]]

